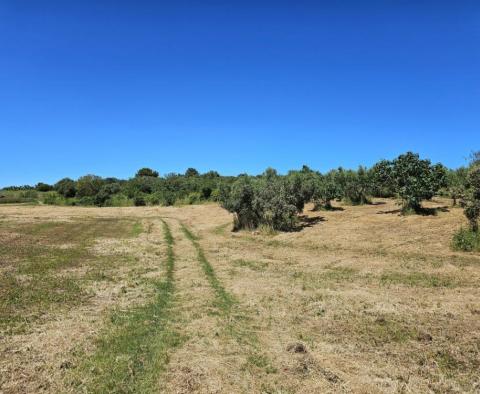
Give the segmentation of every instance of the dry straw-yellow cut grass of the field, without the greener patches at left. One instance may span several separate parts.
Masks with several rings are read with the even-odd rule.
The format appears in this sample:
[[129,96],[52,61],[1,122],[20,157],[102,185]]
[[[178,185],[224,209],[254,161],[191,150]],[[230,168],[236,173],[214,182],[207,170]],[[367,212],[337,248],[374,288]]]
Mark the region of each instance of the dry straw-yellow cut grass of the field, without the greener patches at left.
[[[275,236],[230,232],[230,215],[216,205],[2,206],[1,242],[52,220],[139,220],[145,231],[96,239],[89,253],[109,256],[110,280],[87,281],[90,296],[81,302],[2,334],[0,392],[82,390],[70,385],[71,375],[95,352],[110,311],[148,302],[144,280],[163,275],[162,218],[175,240],[170,319],[181,340],[151,391],[479,392],[480,256],[450,249],[464,224],[461,209],[447,200],[428,205],[446,208],[402,217],[391,200],[329,212],[307,207],[301,231]],[[62,242],[68,247],[68,234]],[[134,263],[115,264],[125,255]],[[0,259],[2,271],[19,262]]]

